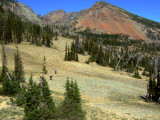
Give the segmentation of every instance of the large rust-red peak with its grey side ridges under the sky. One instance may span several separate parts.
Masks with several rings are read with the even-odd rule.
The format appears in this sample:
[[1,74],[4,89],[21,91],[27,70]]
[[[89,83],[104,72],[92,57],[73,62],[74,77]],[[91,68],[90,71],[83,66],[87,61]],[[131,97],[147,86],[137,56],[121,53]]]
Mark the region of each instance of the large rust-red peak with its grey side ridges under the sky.
[[[56,18],[56,16],[54,16]],[[48,23],[59,23],[79,28],[87,27],[97,32],[110,34],[126,34],[135,39],[150,39],[148,30],[160,28],[159,24],[131,14],[119,7],[100,1],[91,8],[73,13],[66,13],[60,19],[52,19],[52,15],[45,16]],[[157,33],[156,33],[157,34]]]

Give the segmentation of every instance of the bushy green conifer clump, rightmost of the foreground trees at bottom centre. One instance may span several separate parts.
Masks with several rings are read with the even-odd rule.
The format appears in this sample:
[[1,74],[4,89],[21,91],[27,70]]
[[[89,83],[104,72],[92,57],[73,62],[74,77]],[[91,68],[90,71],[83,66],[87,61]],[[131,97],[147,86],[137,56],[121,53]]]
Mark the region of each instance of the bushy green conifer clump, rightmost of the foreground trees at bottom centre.
[[62,116],[70,120],[83,120],[85,113],[82,111],[79,88],[76,82],[73,83],[67,78],[65,84],[65,99],[62,106]]

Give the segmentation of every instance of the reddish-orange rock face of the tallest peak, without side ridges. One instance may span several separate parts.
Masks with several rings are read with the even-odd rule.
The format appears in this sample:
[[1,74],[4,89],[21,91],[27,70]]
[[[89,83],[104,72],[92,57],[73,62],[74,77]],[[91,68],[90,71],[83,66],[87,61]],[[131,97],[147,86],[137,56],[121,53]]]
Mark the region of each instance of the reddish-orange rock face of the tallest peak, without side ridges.
[[127,34],[135,39],[146,39],[139,24],[132,21],[123,9],[106,3],[96,3],[79,17],[76,27],[96,29],[111,34]]

